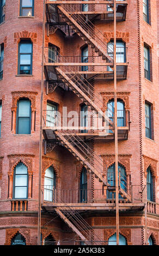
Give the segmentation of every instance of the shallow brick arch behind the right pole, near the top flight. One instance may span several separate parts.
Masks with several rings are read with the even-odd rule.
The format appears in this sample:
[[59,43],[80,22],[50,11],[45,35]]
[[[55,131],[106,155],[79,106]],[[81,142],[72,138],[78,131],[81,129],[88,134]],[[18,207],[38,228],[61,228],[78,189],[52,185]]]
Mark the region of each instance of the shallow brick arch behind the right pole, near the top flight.
[[[103,36],[104,36],[104,42],[108,43],[109,41],[111,41],[111,39],[114,39],[114,32],[104,32]],[[129,42],[129,36],[130,36],[129,32],[117,31],[116,36],[117,36],[117,39],[121,39],[124,42]]]

